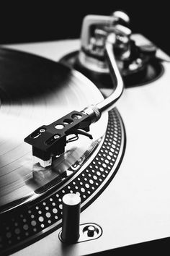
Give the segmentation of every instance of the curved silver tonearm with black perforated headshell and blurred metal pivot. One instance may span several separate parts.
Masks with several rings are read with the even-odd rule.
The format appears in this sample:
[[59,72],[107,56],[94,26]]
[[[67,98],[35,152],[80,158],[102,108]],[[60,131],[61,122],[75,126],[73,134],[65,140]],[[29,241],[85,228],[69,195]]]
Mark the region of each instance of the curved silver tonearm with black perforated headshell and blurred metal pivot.
[[[113,108],[122,95],[123,82],[115,61],[114,51],[115,47],[120,48],[120,58],[128,54],[130,29],[118,23],[120,20],[124,21],[124,23],[128,22],[128,17],[125,14],[124,17],[123,14],[120,16],[121,18],[116,17],[116,15],[108,18],[89,15],[84,20],[81,33],[80,59],[84,53],[89,55],[90,58],[95,55],[98,59],[105,59],[114,85],[112,94],[96,105],[87,106],[82,111],[72,111],[52,124],[39,127],[35,132],[27,136],[24,141],[32,145],[32,155],[42,161],[52,163],[50,159],[64,153],[68,135],[78,136],[81,134],[91,139],[92,137],[88,133],[90,125],[98,121],[104,111],[109,111]],[[95,43],[91,39],[92,25],[100,25],[95,31],[97,35]],[[91,46],[91,40],[93,41],[93,47]],[[123,47],[122,41],[124,42]]]

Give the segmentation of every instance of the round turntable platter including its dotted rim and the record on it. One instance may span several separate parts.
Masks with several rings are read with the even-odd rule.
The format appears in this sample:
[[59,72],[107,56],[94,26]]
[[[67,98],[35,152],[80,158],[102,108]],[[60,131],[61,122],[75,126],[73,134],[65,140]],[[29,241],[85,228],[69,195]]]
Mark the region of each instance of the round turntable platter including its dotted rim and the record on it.
[[114,108],[91,124],[93,140],[80,135],[43,168],[24,138],[99,103],[102,93],[63,64],[1,48],[0,98],[0,254],[6,254],[61,226],[63,195],[79,193],[81,210],[100,195],[122,162],[125,128]]

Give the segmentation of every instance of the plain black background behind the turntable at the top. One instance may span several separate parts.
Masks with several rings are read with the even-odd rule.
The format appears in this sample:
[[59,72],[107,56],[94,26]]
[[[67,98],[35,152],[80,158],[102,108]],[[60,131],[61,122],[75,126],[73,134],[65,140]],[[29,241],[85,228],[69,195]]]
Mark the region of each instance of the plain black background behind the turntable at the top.
[[[166,53],[169,47],[169,7],[163,1],[17,1],[0,5],[0,43],[26,43],[79,38],[86,14],[130,15],[133,32],[142,33]],[[36,5],[35,5],[36,3]]]

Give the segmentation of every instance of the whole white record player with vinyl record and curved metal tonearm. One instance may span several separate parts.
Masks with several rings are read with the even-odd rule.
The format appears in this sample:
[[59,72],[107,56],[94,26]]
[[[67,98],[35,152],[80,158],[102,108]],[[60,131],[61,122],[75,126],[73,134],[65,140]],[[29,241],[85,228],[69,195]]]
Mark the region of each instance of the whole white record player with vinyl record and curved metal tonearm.
[[1,255],[169,236],[170,59],[129,22],[88,15],[81,40],[1,47]]

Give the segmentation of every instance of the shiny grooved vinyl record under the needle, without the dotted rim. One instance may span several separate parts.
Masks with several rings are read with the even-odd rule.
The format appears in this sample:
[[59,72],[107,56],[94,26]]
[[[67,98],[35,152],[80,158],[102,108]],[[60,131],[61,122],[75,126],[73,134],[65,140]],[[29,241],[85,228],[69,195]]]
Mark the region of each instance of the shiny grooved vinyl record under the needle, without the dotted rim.
[[[0,98],[0,209],[3,211],[40,196],[53,186],[53,181],[59,182],[66,170],[104,135],[107,116],[92,127],[93,142],[80,137],[79,141],[68,143],[62,158],[53,166],[42,168],[32,162],[32,151],[24,143],[24,137],[42,124],[101,101],[101,93],[86,77],[68,67],[1,49]],[[96,128],[98,133],[94,132]]]

